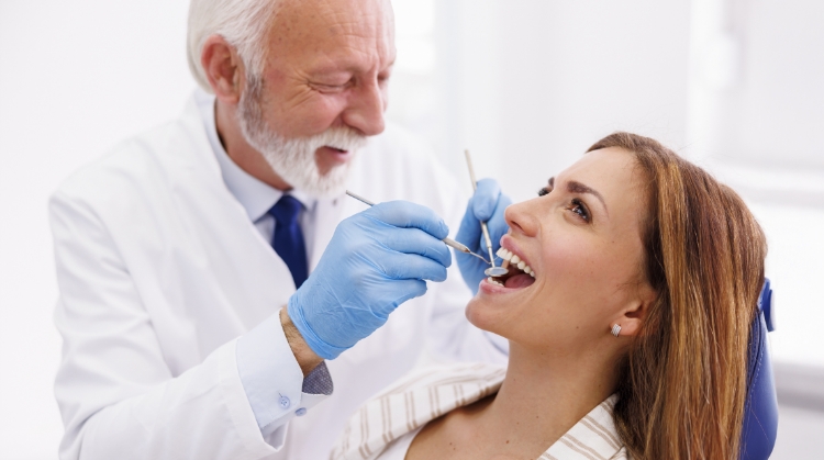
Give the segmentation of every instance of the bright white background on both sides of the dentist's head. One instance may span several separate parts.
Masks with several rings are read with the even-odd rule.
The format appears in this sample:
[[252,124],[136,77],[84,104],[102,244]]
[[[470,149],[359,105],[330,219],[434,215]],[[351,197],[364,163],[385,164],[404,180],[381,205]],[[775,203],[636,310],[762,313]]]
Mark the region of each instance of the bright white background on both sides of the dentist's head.
[[[767,231],[783,308],[776,359],[824,366],[824,12],[816,0],[713,1],[394,0],[390,116],[467,182],[470,148],[516,200],[614,130],[701,161]],[[187,7],[0,0],[0,459],[55,458],[62,431],[47,197],[180,112],[194,87]],[[824,422],[782,414],[775,458],[812,458],[803,442],[816,437],[801,434]]]

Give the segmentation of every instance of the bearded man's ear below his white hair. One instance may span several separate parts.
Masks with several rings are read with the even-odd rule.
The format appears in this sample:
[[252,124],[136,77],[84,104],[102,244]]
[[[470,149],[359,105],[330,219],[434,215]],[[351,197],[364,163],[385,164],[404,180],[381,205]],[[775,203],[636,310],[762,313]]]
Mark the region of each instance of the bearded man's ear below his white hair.
[[209,86],[214,96],[224,103],[236,105],[241,100],[245,69],[237,49],[220,35],[211,35],[200,53]]

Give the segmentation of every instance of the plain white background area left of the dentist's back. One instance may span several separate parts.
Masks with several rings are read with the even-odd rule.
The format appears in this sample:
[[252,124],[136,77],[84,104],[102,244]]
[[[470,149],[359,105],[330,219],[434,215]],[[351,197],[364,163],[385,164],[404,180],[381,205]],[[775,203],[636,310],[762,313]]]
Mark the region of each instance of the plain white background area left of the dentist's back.
[[0,0],[0,459],[56,458],[59,336],[46,200],[176,116],[193,88],[176,0]]

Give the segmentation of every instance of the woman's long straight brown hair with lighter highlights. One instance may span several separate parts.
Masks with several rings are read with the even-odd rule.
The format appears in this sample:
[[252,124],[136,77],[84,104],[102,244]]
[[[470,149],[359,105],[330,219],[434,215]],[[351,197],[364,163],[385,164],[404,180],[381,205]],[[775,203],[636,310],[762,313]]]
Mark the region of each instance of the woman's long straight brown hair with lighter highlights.
[[622,367],[617,431],[634,459],[737,458],[764,233],[732,189],[658,142],[614,133],[588,152],[606,147],[645,176],[644,269],[658,293]]

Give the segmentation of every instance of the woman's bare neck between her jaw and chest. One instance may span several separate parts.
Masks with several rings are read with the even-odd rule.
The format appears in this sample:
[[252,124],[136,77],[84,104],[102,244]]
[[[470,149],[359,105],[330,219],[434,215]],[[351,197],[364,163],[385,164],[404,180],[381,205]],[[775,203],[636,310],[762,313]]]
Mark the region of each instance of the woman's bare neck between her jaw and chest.
[[616,369],[604,354],[550,355],[513,343],[506,378],[476,428],[541,455],[614,392]]

